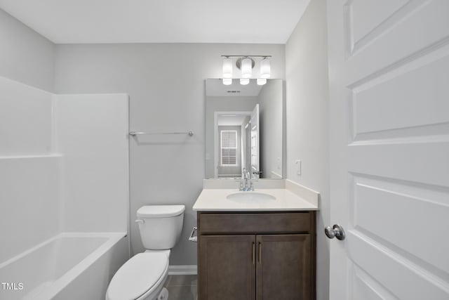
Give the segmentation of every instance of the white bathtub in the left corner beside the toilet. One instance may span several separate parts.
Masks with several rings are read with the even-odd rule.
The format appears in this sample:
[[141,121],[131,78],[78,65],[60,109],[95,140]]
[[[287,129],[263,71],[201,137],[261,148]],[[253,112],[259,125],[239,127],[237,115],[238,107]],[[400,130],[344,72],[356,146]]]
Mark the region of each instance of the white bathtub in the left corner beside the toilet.
[[128,259],[126,233],[61,233],[0,264],[0,299],[104,300]]

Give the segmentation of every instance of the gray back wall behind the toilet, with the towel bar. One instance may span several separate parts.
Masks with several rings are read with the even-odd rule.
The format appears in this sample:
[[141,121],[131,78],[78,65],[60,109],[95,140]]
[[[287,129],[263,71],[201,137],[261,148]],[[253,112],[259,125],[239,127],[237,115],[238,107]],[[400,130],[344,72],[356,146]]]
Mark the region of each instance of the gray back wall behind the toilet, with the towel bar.
[[[170,256],[172,265],[196,263],[196,244],[187,237],[196,224],[192,206],[204,178],[204,84],[206,78],[221,77],[220,56],[227,53],[272,55],[272,77],[284,77],[284,45],[56,45],[56,93],[128,93],[131,130],[195,132],[192,138],[130,139],[131,220],[145,204],[187,207],[181,240]],[[142,252],[138,226],[130,226],[132,252]]]

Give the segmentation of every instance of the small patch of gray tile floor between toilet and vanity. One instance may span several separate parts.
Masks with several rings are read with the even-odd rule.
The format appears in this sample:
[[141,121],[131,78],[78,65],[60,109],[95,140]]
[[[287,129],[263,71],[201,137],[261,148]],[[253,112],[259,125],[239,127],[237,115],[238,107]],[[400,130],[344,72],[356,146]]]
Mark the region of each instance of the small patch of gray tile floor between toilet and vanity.
[[196,300],[196,275],[168,275],[163,286],[169,300]]

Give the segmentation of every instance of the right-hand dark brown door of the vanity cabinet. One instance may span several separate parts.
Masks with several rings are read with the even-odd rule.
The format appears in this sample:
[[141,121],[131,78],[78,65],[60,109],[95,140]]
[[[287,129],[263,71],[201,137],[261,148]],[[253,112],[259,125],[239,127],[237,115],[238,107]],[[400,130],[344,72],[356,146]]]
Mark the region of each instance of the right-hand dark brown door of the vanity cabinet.
[[314,299],[311,235],[257,235],[257,300]]

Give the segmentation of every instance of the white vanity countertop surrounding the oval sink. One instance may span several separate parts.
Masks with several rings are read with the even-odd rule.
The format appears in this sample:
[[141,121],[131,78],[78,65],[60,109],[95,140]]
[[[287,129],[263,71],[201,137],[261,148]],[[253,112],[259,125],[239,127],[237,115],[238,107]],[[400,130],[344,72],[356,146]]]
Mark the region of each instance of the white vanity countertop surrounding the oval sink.
[[[264,193],[276,197],[268,201],[234,201],[227,199],[234,193]],[[196,199],[194,211],[304,211],[318,207],[285,188],[256,189],[240,192],[237,189],[203,189]]]

